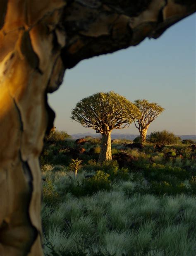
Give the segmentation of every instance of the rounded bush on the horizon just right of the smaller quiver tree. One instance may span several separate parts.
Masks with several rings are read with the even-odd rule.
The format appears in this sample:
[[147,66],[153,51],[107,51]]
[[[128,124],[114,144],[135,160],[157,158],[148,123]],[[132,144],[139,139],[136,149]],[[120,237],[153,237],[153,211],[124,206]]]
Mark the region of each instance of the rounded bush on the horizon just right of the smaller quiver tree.
[[151,134],[148,136],[148,141],[161,145],[170,145],[179,142],[179,137],[175,136],[172,132],[163,130],[158,132],[151,132]]

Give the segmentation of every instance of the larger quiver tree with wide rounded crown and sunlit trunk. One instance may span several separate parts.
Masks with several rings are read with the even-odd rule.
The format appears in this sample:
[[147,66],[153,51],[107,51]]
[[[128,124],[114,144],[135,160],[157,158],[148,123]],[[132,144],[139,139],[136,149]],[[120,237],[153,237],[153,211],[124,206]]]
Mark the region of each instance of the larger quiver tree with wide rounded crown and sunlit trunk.
[[139,115],[139,110],[134,103],[110,91],[83,98],[72,110],[71,118],[82,126],[102,134],[98,162],[103,163],[105,160],[112,160],[112,130],[128,128]]

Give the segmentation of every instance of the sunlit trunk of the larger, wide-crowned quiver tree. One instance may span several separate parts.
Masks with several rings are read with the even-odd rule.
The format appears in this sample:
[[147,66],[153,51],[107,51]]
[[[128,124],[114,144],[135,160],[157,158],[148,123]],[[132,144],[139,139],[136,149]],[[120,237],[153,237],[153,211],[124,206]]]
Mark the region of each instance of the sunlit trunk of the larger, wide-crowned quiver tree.
[[103,161],[110,160],[112,160],[111,131],[102,134],[101,150],[99,154],[98,163],[103,163]]

